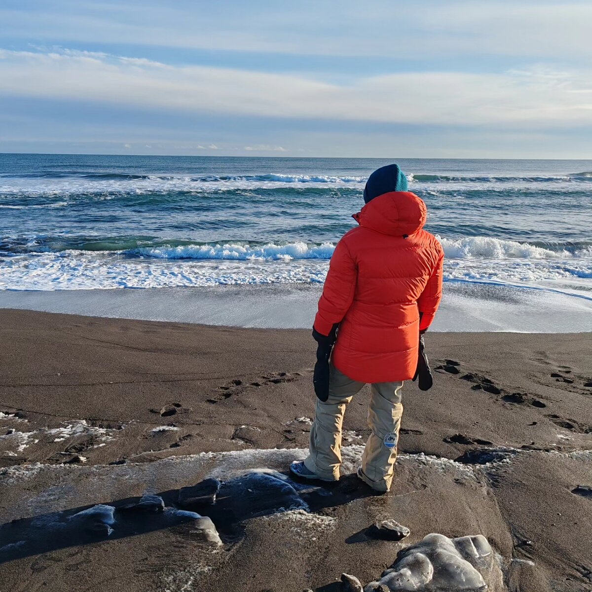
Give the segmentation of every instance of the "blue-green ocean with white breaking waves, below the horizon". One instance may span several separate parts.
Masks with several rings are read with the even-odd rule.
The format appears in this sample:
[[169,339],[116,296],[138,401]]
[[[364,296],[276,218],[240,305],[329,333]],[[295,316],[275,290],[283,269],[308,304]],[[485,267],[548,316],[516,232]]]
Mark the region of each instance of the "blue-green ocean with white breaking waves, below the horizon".
[[0,289],[322,284],[398,162],[448,285],[592,300],[592,161],[0,155]]

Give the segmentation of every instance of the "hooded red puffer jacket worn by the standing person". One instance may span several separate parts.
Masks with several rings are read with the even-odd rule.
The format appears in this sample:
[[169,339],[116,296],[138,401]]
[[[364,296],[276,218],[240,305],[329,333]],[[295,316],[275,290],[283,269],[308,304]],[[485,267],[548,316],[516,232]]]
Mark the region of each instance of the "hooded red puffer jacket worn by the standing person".
[[426,204],[407,191],[379,195],[353,217],[359,227],[335,248],[314,328],[328,335],[340,323],[332,362],[349,378],[413,378],[419,331],[442,298],[442,246],[422,230]]

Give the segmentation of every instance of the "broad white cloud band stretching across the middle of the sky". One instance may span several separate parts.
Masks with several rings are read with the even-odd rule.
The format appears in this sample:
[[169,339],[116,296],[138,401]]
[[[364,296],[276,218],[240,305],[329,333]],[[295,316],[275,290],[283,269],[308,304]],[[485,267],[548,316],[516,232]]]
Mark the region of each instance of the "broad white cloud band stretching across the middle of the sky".
[[[347,85],[304,76],[0,50],[0,93],[274,118],[524,127],[592,124],[591,70],[404,72]],[[208,146],[215,149],[214,145]]]

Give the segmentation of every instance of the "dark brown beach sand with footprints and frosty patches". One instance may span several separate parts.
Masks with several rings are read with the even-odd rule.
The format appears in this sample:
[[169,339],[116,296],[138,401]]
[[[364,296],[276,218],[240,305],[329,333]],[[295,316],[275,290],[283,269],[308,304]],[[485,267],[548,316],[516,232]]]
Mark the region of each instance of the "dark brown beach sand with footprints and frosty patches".
[[[205,477],[286,473],[313,417],[308,330],[0,310],[0,336],[0,548],[36,539],[4,559],[0,549],[7,589],[339,590],[342,572],[375,580],[439,532],[487,537],[499,555],[490,590],[590,590],[589,333],[428,334],[435,386],[404,387],[392,492],[371,496],[346,475],[297,490],[307,510],[278,512],[273,492],[255,507],[227,485],[203,512],[215,549],[153,517],[103,538],[47,533],[58,513],[93,504],[150,491],[174,505]],[[368,436],[367,403],[365,388],[346,413],[346,472]],[[409,538],[369,538],[386,518]]]

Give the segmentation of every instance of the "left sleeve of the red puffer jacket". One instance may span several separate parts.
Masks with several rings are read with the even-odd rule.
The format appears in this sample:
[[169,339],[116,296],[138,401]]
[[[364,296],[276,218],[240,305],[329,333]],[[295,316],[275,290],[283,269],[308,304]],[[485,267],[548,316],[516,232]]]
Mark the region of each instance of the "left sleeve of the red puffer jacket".
[[323,295],[318,301],[318,312],[314,319],[314,329],[318,333],[329,335],[333,325],[343,320],[352,305],[357,279],[358,266],[342,239],[333,252]]

